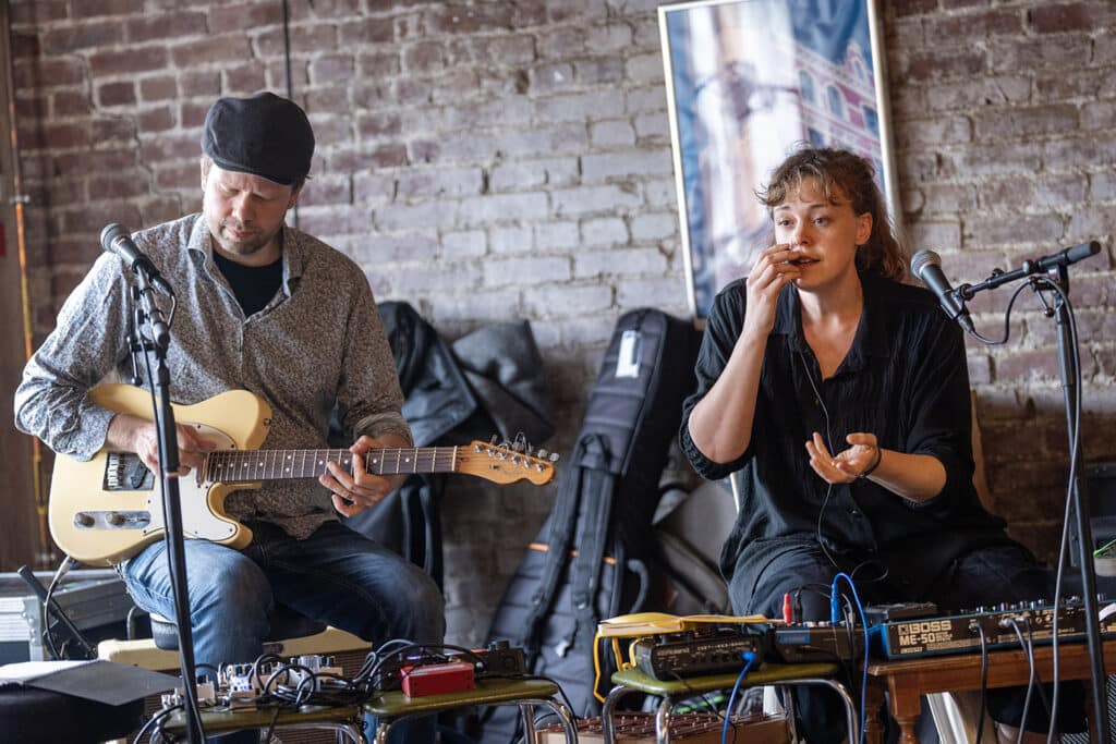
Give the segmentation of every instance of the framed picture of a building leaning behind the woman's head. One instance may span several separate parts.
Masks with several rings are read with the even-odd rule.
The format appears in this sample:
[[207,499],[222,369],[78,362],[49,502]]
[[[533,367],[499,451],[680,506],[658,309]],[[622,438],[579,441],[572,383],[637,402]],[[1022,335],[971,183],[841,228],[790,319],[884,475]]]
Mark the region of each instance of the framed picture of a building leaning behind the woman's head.
[[872,161],[898,219],[876,0],[703,0],[658,26],[696,318],[768,245],[756,191],[802,143]]

